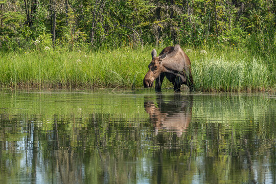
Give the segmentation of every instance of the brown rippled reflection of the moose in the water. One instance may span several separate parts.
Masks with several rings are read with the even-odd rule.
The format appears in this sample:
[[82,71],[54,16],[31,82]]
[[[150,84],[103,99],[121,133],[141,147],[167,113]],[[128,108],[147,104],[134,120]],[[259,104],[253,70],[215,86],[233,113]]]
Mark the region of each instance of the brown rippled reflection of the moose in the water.
[[156,98],[156,100],[153,96],[144,98],[144,107],[150,116],[156,135],[159,131],[166,130],[181,136],[192,119],[193,96],[174,94],[172,99],[166,99],[164,95],[158,94]]

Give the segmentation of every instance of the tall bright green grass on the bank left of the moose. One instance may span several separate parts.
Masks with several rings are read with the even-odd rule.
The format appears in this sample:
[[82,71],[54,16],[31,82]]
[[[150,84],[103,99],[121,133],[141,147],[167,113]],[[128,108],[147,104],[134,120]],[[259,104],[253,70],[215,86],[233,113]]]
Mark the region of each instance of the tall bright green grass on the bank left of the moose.
[[141,86],[136,81],[143,80],[148,62],[145,50],[128,48],[9,53],[1,56],[0,83],[11,87],[131,87],[135,79]]

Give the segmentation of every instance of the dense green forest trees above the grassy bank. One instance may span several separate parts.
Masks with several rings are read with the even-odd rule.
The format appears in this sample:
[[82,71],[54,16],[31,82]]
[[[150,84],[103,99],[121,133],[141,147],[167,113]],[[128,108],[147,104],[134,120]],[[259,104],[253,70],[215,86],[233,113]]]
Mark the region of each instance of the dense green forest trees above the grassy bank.
[[273,0],[2,0],[0,49],[178,43],[270,52],[275,14]]

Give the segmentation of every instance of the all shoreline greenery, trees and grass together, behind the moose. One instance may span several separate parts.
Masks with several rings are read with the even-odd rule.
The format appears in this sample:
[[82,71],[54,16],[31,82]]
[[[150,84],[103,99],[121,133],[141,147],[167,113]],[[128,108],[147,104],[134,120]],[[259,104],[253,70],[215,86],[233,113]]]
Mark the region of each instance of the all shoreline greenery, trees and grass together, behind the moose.
[[273,0],[2,0],[0,84],[142,87],[151,50],[180,44],[195,90],[275,90],[275,15]]

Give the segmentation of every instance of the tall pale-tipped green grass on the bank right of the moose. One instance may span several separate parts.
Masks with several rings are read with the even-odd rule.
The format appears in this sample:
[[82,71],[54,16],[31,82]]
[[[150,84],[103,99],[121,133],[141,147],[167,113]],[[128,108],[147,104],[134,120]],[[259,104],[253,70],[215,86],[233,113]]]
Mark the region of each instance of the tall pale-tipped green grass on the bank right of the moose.
[[250,52],[209,49],[190,57],[195,88],[199,91],[275,90],[275,56],[262,58]]

